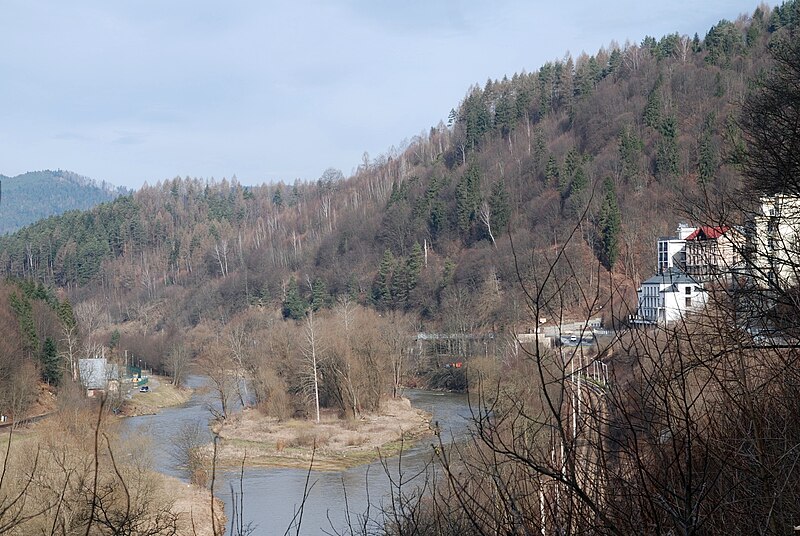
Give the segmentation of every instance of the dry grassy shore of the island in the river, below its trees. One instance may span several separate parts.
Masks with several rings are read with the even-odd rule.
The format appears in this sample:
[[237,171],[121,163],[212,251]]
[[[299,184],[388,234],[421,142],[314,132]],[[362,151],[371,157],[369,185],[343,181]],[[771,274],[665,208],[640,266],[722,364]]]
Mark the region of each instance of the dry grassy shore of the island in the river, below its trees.
[[318,424],[278,421],[248,408],[215,430],[217,462],[249,467],[293,467],[339,471],[391,457],[431,434],[430,414],[407,398],[388,399],[377,414],[355,421],[328,416]]

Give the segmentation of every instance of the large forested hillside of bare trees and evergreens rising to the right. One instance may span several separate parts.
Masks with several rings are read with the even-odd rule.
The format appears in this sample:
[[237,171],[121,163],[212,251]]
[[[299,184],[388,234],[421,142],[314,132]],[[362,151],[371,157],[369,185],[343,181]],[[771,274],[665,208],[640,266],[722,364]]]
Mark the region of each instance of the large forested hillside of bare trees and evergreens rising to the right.
[[[610,269],[601,292],[629,299],[603,312],[611,322],[686,201],[738,184],[740,102],[796,19],[788,2],[704,37],[612,42],[488,80],[448,124],[365,154],[349,178],[145,186],[3,237],[0,268],[94,304],[101,331],[226,323],[252,307],[300,317],[346,295],[419,329],[489,332],[529,326],[511,290],[574,237],[556,270],[596,286]],[[567,316],[592,313],[580,288],[561,290]]]

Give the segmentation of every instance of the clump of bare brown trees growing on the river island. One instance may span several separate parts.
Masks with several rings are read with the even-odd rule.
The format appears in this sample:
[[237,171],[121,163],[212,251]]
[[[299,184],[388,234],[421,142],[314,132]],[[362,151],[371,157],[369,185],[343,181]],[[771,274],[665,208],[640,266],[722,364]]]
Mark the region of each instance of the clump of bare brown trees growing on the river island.
[[233,406],[255,405],[272,417],[316,418],[317,401],[340,416],[374,412],[399,396],[414,361],[413,325],[341,299],[303,320],[253,311],[200,345],[199,370],[211,382],[219,418]]

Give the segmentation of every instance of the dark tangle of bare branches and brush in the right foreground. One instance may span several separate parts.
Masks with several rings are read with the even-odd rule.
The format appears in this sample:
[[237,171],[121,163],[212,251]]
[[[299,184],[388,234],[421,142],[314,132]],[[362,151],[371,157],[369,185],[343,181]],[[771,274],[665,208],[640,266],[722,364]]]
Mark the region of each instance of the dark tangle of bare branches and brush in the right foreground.
[[[792,33],[782,39],[775,70],[743,110],[743,125],[763,129],[747,135],[763,143],[744,153],[748,184],[707,190],[691,207],[698,223],[747,230],[764,216],[759,195],[795,193],[800,167],[782,151],[797,141],[800,48]],[[787,98],[760,100],[777,91]],[[780,118],[771,137],[752,113]],[[772,229],[774,240],[750,228],[737,252],[743,261],[707,283],[706,307],[681,322],[620,331],[591,350],[527,348],[506,381],[475,392],[472,441],[442,445],[437,485],[388,512],[388,532],[794,533],[800,219],[787,210],[781,217],[789,230]],[[774,277],[776,265],[789,275]],[[560,310],[548,290],[557,274],[551,265],[522,280],[531,316]],[[577,273],[558,283],[578,286]],[[617,299],[595,290],[581,297],[587,308]]]

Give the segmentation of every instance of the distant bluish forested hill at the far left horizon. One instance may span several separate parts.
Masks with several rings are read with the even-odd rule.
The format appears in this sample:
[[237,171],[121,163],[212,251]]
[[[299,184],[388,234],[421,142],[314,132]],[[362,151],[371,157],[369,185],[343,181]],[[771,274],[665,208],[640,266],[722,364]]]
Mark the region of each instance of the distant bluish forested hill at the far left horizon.
[[87,210],[124,193],[69,171],[32,171],[2,181],[0,235],[69,210]]

